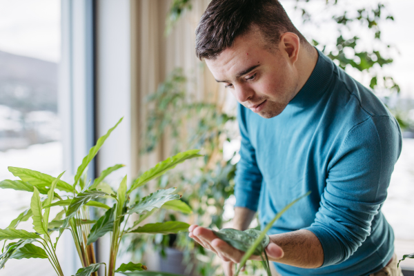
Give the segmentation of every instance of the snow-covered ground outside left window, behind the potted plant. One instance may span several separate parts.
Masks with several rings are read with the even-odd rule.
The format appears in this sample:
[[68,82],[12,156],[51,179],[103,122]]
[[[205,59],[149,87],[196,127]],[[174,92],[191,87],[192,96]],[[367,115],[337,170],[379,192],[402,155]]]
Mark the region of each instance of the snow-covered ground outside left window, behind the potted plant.
[[[48,175],[57,176],[62,169],[62,146],[60,142],[32,145],[23,150],[7,150],[0,152],[0,180],[17,179],[8,171],[8,166],[30,168]],[[6,228],[12,219],[30,206],[31,193],[10,189],[0,189],[0,228]],[[51,212],[52,213],[52,212]],[[53,217],[53,215],[50,215]],[[19,228],[32,231],[32,219],[19,225]],[[65,257],[63,234],[57,247],[59,259]],[[53,240],[53,239],[52,239]],[[1,243],[1,245],[3,245]],[[34,272],[33,268],[36,268]],[[55,276],[48,259],[11,259],[0,272],[1,276]]]

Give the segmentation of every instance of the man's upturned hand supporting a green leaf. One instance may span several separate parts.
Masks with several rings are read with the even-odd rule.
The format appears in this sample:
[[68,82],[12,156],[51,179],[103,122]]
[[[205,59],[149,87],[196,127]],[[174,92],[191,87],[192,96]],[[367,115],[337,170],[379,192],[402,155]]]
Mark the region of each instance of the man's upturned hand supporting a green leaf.
[[[225,263],[224,263],[224,272],[227,276],[233,276],[233,263],[239,264],[242,260],[244,252],[237,250],[233,246],[230,246],[222,239],[219,239],[211,230],[203,228],[197,225],[192,225],[188,228],[190,233],[189,237],[193,238],[197,243],[199,243],[204,248],[212,250],[216,253]],[[282,258],[284,252],[282,248],[270,242],[266,246],[266,253],[269,259],[279,259]],[[261,260],[260,256],[252,255],[250,259]]]

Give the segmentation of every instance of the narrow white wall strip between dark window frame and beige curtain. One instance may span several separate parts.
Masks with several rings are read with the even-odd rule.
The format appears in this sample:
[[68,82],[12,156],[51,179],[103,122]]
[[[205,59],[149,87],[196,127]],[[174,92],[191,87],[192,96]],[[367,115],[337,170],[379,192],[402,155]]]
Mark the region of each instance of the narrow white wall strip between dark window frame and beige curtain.
[[[109,181],[130,176],[130,1],[97,1],[97,135],[101,137],[119,118],[98,154],[100,172],[115,164],[126,168],[113,172]],[[119,183],[118,183],[119,184]]]

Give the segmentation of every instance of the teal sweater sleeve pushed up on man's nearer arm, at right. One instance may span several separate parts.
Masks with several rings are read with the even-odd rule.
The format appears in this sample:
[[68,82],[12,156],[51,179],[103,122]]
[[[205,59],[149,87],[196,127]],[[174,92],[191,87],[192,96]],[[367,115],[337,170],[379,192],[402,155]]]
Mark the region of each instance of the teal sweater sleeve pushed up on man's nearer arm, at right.
[[400,128],[392,117],[369,117],[349,130],[328,165],[315,221],[306,228],[322,244],[322,267],[344,262],[371,234],[401,145]]

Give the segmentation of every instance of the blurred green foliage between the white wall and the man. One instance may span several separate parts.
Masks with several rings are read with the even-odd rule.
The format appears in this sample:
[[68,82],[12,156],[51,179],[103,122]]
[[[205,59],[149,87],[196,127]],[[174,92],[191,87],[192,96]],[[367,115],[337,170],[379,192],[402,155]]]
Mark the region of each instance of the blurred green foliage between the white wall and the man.
[[[231,130],[236,118],[221,111],[222,106],[192,99],[192,94],[186,91],[187,85],[188,80],[182,70],[176,69],[159,85],[157,92],[148,98],[148,106],[152,108],[148,112],[142,153],[155,150],[163,137],[166,137],[166,132],[172,152],[179,152],[181,148],[188,147],[201,148],[204,159],[192,162],[182,170],[177,168],[175,172],[161,177],[156,186],[177,187],[177,192],[182,194],[181,199],[194,211],[188,218],[191,224],[221,229],[225,222],[222,216],[224,201],[233,195],[235,176],[233,158],[224,161],[222,148],[224,141],[237,138],[237,131]],[[178,219],[164,210],[158,215],[159,221]],[[214,256],[195,244],[186,233],[133,239],[130,242],[130,252],[135,253],[137,259],[140,259],[147,249],[146,246],[141,246],[142,243],[146,246],[155,245],[164,256],[166,246],[179,248],[184,251],[189,265],[194,264],[190,260],[195,255],[202,255],[201,259],[204,262],[197,262],[197,268],[188,268],[195,269],[199,275],[215,275],[217,270],[217,266],[213,265]],[[141,251],[135,250],[140,246]]]

